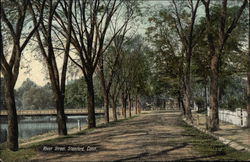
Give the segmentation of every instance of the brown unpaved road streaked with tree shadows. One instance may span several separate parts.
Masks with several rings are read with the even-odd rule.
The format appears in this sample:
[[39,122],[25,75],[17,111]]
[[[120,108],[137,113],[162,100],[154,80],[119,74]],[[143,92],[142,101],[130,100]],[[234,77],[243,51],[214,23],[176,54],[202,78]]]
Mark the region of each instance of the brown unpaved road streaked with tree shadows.
[[58,145],[89,145],[96,151],[78,153],[39,152],[33,160],[42,161],[169,161],[195,160],[199,154],[192,149],[182,132],[179,112],[154,112],[97,128],[84,135],[66,138]]

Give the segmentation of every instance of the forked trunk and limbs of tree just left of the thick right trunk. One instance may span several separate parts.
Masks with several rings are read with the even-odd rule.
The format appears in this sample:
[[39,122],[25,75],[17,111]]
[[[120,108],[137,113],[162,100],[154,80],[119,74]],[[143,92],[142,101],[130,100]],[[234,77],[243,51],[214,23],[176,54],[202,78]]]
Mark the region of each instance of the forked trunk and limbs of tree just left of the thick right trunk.
[[[197,17],[197,10],[199,7],[200,0],[197,0],[195,5],[192,0],[188,1],[188,8],[190,8],[190,23],[182,23],[180,17],[180,11],[178,11],[177,4],[175,0],[172,0],[175,8],[175,28],[178,33],[180,42],[183,45],[185,56],[184,56],[184,64],[183,64],[183,92],[184,92],[184,106],[185,106],[185,116],[187,119],[192,120],[192,113],[190,108],[190,100],[191,100],[191,59],[193,55],[193,48],[197,44],[197,37],[199,38],[199,34],[194,34],[199,32],[195,28],[195,20]],[[182,3],[182,2],[181,2]],[[186,12],[184,9],[182,12]],[[185,17],[184,17],[185,20]]]

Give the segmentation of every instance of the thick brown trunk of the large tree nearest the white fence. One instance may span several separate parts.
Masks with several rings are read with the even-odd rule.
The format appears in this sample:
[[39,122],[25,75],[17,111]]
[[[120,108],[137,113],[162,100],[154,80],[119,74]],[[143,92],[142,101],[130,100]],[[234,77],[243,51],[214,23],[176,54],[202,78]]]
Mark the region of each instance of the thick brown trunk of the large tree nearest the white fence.
[[214,54],[211,59],[211,85],[210,85],[210,113],[208,115],[208,130],[216,131],[219,129],[218,112],[218,56]]

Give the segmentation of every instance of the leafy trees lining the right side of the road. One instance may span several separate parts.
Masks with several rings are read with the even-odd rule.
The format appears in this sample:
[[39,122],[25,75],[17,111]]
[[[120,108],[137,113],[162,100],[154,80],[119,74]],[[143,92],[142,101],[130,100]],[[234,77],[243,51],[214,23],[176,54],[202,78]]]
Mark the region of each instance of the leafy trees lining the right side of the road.
[[152,45],[157,84],[164,83],[165,92],[177,96],[186,118],[192,121],[192,84],[202,82],[206,87],[210,83],[211,111],[207,121],[210,131],[219,128],[218,102],[223,77],[237,75],[240,70],[246,73],[250,66],[249,63],[243,64],[243,69],[237,66],[243,63],[237,58],[246,60],[249,55],[247,4],[247,0],[172,0],[168,8],[156,6],[148,12],[150,25],[146,34]]

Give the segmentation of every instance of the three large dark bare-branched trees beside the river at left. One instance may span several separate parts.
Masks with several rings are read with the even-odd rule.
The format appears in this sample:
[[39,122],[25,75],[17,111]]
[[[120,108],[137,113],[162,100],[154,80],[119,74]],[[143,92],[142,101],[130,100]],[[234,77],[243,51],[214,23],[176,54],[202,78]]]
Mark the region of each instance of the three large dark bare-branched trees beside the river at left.
[[[84,76],[88,127],[96,127],[94,73],[113,40],[117,36],[124,37],[131,28],[139,3],[133,0],[14,0],[1,1],[0,4],[0,57],[8,110],[8,148],[18,150],[14,87],[21,58],[27,52],[25,47],[33,41],[39,49],[38,57],[48,69],[55,97],[58,134],[67,135],[64,100],[69,60],[81,69]],[[119,41],[122,43],[123,39]],[[62,66],[59,59],[63,60]],[[108,122],[108,117],[106,119]]]

